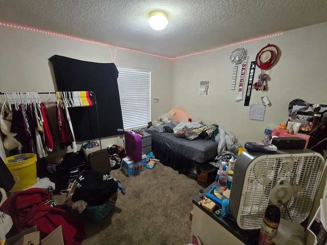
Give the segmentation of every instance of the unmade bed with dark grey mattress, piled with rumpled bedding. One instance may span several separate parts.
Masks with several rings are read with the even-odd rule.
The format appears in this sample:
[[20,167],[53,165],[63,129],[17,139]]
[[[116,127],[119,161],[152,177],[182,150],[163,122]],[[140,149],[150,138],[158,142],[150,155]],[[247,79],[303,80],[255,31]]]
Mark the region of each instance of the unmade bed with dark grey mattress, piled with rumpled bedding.
[[146,132],[152,136],[152,151],[166,166],[188,174],[193,164],[214,160],[226,151],[238,152],[240,144],[217,124],[204,125],[175,108],[152,121]]

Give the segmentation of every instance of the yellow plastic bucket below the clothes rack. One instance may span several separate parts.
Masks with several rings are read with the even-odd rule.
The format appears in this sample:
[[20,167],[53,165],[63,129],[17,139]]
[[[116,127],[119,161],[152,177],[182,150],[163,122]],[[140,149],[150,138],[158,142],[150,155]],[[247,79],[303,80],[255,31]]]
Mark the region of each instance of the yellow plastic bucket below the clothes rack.
[[36,183],[36,154],[26,153],[25,156],[30,157],[29,159],[19,162],[8,162],[16,156],[19,155],[5,158],[6,166],[15,180],[15,185],[9,192],[24,190]]

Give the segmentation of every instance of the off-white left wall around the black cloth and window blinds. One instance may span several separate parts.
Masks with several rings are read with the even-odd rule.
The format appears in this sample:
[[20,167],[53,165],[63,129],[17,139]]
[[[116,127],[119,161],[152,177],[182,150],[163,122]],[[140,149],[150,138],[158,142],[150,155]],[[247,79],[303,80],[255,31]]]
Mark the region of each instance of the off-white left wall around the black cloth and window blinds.
[[[110,50],[111,48],[111,50]],[[79,41],[35,31],[0,26],[0,91],[1,92],[48,92],[55,91],[55,79],[48,59],[61,55],[79,60],[111,63],[116,66],[131,66],[151,70],[151,113],[156,118],[161,111],[170,110],[171,62],[168,59],[142,53],[104,46],[97,43]],[[49,95],[40,95],[46,102]],[[54,95],[52,98],[55,99]],[[159,98],[159,103],[153,103]],[[0,95],[0,104],[5,100]],[[58,132],[55,122],[55,107],[49,109],[52,127]],[[58,137],[57,137],[58,138]],[[122,137],[102,139],[102,147],[109,144],[123,145]],[[59,149],[59,146],[57,144]],[[78,145],[78,149],[80,144]],[[4,153],[3,144],[0,150]],[[71,152],[69,147],[67,152]],[[60,151],[52,155],[63,155]]]

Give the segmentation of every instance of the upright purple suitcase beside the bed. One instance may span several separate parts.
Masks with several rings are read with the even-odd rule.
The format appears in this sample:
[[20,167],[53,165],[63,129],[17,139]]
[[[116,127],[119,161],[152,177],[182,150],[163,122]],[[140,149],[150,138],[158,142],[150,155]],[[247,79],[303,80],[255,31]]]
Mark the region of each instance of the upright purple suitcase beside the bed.
[[126,154],[133,162],[142,160],[142,139],[133,131],[125,131]]

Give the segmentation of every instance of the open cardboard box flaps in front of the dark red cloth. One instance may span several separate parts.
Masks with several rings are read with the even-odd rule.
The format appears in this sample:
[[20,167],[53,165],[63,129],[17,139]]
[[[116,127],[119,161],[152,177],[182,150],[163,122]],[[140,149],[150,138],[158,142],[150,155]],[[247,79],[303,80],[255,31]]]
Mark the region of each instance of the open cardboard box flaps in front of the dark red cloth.
[[[0,243],[2,244],[2,243]],[[7,240],[5,245],[64,245],[61,226],[58,226],[53,232],[40,241],[40,232],[36,226],[23,231]]]

